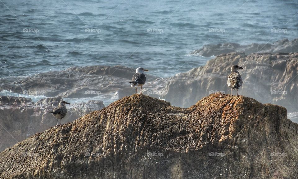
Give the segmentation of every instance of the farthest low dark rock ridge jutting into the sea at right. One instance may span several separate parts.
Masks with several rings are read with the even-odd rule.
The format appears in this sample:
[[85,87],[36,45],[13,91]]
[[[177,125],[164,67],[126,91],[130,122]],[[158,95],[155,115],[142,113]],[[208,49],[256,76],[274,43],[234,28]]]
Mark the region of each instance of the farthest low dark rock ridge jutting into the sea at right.
[[231,52],[244,52],[246,55],[252,53],[291,53],[298,52],[296,48],[298,46],[298,39],[289,41],[283,39],[274,42],[273,44],[257,44],[253,43],[250,45],[240,45],[237,43],[224,43],[224,44],[209,44],[204,45],[203,48],[193,50],[190,54],[201,55],[210,57],[212,55],[217,56],[220,54],[227,54]]

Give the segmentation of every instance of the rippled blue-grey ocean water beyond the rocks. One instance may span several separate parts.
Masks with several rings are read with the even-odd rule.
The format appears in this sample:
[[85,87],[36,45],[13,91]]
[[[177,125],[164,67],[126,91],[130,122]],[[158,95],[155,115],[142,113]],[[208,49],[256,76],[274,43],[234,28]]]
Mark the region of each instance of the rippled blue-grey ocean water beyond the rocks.
[[188,55],[205,44],[297,38],[297,9],[294,0],[1,0],[0,78],[89,65],[174,76],[211,59]]

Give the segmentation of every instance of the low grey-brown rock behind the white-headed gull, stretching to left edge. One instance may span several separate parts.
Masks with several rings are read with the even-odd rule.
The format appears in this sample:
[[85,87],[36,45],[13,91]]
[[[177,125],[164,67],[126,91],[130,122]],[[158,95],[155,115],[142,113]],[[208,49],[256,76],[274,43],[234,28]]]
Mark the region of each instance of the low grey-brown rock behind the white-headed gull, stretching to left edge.
[[[2,79],[0,90],[63,98],[91,98],[98,95],[102,95],[103,98],[113,98],[118,93],[122,97],[134,93],[134,90],[129,87],[129,81],[134,73],[135,69],[122,66],[71,67],[67,70],[39,73],[19,80]],[[147,79],[151,79],[148,80],[151,82],[146,84],[147,87],[156,86],[156,78],[150,74],[146,76]],[[157,81],[160,80],[162,79]]]

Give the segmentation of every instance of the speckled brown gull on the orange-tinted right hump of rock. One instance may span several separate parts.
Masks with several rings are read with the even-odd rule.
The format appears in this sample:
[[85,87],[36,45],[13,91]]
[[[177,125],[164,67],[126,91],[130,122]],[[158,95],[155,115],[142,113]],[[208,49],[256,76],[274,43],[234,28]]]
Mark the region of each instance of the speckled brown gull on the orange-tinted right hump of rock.
[[232,73],[228,76],[228,86],[231,88],[231,94],[233,96],[233,89],[237,89],[237,96],[238,96],[238,89],[240,86],[242,86],[242,78],[238,69],[243,69],[242,67],[239,67],[238,65],[232,65],[231,71]]

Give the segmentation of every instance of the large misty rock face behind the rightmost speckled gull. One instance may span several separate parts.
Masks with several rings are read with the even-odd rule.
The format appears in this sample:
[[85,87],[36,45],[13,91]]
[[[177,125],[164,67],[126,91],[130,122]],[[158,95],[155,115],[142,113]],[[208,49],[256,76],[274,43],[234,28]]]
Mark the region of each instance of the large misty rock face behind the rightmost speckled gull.
[[189,107],[211,93],[229,94],[227,76],[233,64],[244,68],[239,70],[243,79],[239,94],[284,106],[290,112],[298,109],[298,53],[219,55],[205,66],[168,79],[163,98],[175,106]]

